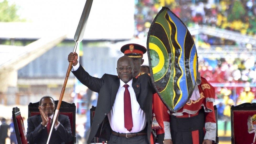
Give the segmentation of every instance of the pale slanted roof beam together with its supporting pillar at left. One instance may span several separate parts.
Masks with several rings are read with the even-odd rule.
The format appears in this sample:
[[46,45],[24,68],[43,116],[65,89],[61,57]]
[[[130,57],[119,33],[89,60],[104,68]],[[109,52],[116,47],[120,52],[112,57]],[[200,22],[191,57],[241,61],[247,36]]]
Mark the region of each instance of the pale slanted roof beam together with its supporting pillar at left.
[[[17,70],[41,56],[66,38],[66,34],[56,34],[40,38],[24,47],[0,45],[0,92],[17,85]],[[12,90],[13,91],[13,90]]]

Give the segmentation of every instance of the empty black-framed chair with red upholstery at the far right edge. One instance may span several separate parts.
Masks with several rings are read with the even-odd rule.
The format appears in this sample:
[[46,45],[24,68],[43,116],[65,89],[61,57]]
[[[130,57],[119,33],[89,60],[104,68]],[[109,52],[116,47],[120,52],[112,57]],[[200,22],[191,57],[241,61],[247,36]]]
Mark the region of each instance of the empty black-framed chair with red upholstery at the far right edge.
[[248,133],[248,117],[256,114],[256,103],[231,106],[231,143],[253,143],[254,132]]

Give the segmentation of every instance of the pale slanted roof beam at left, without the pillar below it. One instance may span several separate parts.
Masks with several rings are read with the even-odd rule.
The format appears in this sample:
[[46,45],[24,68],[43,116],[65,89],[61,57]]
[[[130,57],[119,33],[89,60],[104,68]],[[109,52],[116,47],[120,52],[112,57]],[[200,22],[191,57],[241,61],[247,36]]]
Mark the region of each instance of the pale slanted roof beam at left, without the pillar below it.
[[27,46],[0,45],[0,73],[18,70],[60,43],[66,35],[41,38]]

